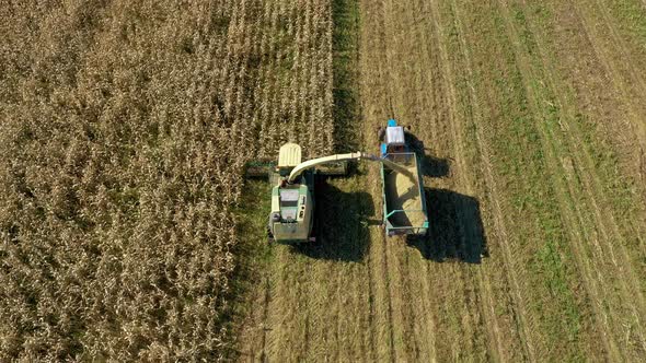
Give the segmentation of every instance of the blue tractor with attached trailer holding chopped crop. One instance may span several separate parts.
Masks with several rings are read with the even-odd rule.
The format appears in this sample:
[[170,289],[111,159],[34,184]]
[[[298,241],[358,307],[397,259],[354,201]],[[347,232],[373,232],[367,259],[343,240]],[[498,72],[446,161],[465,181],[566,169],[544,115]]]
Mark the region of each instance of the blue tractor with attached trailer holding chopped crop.
[[[388,236],[424,235],[428,231],[428,213],[417,154],[409,150],[406,131],[396,120],[380,129],[380,156],[408,173],[381,164],[383,186],[383,225]],[[399,167],[397,167],[399,168]]]

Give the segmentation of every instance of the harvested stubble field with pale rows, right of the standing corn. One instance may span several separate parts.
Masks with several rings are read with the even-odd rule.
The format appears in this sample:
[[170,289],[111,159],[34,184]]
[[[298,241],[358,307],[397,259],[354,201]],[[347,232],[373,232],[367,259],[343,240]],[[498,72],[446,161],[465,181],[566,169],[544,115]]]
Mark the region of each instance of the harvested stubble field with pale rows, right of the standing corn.
[[316,245],[257,247],[241,359],[644,356],[643,4],[334,3],[336,126],[411,127],[430,232],[384,237],[377,165],[328,180]]

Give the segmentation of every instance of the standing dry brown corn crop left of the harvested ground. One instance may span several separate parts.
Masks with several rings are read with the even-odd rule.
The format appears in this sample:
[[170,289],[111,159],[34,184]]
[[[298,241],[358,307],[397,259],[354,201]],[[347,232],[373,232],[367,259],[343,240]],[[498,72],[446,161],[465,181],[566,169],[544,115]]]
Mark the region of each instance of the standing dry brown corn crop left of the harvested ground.
[[230,356],[244,164],[334,149],[330,1],[0,15],[0,361]]

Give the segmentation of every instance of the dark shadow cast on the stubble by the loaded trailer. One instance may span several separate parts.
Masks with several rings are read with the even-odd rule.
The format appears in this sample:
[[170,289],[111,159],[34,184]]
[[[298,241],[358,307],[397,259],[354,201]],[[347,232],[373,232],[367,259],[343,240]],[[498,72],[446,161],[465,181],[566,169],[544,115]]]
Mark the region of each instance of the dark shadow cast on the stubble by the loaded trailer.
[[488,257],[480,203],[473,197],[447,189],[425,188],[428,234],[407,238],[427,259],[480,264]]

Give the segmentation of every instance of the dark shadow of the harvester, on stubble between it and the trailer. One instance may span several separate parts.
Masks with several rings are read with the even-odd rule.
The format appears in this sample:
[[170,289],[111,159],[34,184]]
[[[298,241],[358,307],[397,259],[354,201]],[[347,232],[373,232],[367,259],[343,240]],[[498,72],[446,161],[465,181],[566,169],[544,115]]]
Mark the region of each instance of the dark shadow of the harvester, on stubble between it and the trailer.
[[379,224],[372,196],[366,191],[343,191],[322,180],[316,184],[314,234],[316,242],[293,250],[315,259],[361,261],[368,253],[368,226]]

